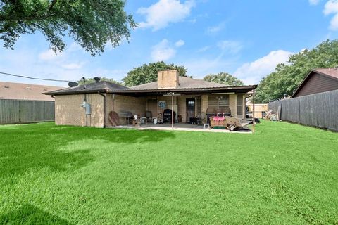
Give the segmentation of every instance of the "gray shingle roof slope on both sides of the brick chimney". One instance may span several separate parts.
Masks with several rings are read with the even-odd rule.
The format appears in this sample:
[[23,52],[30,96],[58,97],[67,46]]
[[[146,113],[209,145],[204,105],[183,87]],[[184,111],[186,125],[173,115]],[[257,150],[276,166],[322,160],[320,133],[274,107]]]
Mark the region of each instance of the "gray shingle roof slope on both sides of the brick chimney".
[[[226,84],[218,84],[215,82],[206,82],[203,79],[192,79],[189,77],[179,77],[179,86],[177,89],[202,89],[202,88],[213,88],[213,87],[224,87],[229,86]],[[151,82],[148,84],[141,84],[132,86],[134,90],[154,90],[157,88],[157,82]]]

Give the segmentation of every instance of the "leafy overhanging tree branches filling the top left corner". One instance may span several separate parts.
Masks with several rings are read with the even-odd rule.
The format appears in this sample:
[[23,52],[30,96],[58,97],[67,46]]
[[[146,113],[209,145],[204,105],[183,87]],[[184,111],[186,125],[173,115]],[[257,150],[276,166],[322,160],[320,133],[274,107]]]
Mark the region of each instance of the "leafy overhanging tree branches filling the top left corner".
[[63,51],[65,33],[92,56],[107,43],[118,46],[136,27],[123,0],[0,0],[0,40],[13,49],[21,34],[42,32],[51,49]]

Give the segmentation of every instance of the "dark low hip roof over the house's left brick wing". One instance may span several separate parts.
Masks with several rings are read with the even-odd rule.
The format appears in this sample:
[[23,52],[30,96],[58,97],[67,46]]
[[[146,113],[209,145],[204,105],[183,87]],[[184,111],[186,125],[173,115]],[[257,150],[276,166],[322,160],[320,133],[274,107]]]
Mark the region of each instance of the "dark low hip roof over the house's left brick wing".
[[79,86],[68,87],[66,89],[49,91],[44,94],[49,95],[58,95],[58,94],[81,94],[81,93],[95,93],[98,91],[106,92],[106,91],[116,91],[116,90],[128,90],[130,89],[127,86],[123,86],[120,84],[115,84],[111,82],[101,81],[101,82],[93,82],[89,84],[82,84]]

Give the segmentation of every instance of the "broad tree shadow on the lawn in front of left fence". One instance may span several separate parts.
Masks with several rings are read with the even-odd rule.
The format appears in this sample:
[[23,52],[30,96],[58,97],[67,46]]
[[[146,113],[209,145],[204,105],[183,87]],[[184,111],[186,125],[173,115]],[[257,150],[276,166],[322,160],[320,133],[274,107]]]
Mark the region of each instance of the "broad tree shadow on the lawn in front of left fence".
[[[23,174],[30,168],[48,167],[58,171],[79,169],[94,160],[91,150],[100,148],[102,141],[132,144],[175,137],[173,132],[168,131],[97,129],[55,126],[52,123],[8,128],[0,126],[0,175],[3,177]],[[98,141],[90,143],[90,140]],[[73,143],[78,143],[73,150],[61,150]]]

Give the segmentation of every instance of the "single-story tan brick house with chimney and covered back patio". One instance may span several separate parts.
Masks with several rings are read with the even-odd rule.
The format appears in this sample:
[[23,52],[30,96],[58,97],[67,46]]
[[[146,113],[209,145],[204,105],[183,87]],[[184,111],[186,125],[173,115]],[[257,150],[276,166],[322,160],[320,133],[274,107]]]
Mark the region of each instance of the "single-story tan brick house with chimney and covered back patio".
[[[127,87],[99,81],[44,94],[54,96],[56,124],[112,127],[127,124],[127,117],[165,116],[173,122],[189,122],[194,117],[227,113],[245,118],[245,98],[256,89],[227,86],[200,79],[180,77],[177,70],[158,72],[157,82]],[[151,114],[151,115],[150,115]],[[171,122],[170,117],[166,117]]]

